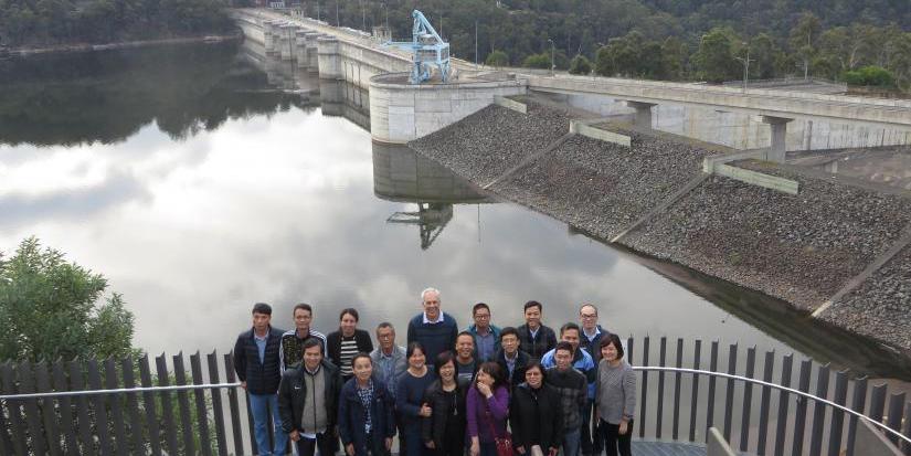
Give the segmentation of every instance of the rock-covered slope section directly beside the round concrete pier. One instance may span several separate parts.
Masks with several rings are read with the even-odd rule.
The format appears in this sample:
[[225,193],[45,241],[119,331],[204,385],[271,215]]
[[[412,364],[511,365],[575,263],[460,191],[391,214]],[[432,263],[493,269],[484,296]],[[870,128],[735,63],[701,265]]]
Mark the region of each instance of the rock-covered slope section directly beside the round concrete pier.
[[490,105],[409,146],[485,185],[570,130],[565,110],[525,103],[527,115]]

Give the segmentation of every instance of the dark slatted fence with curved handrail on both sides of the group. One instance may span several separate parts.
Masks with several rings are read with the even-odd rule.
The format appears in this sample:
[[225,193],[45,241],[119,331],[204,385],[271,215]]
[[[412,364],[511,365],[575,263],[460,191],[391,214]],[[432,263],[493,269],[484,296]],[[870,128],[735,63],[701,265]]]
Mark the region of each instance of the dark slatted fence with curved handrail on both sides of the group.
[[[911,403],[886,384],[698,339],[629,338],[626,358],[637,371],[635,447],[705,454],[716,427],[744,454],[911,453]],[[0,364],[0,454],[252,454],[231,353],[197,352],[189,362],[161,354],[153,365],[147,356]]]

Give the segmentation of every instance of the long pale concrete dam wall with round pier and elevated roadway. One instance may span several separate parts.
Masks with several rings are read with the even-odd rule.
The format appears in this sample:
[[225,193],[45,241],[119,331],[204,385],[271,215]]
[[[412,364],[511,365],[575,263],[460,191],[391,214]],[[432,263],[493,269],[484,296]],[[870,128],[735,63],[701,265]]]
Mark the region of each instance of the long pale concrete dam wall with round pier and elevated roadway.
[[[389,81],[378,82],[374,81],[374,76],[407,72],[411,67],[411,55],[383,46],[366,32],[331,26],[311,18],[287,15],[262,9],[237,9],[232,14],[247,39],[263,43],[267,52],[283,60],[297,61],[299,66],[318,71],[322,78],[340,78],[362,88],[375,85],[388,93],[392,91]],[[766,88],[743,91],[738,87],[705,84],[565,74],[550,76],[522,68],[496,72],[495,68],[481,67],[459,60],[453,61],[453,67],[458,74],[454,84],[464,84],[459,83],[459,79],[472,79],[484,74],[488,85],[497,77],[499,78],[497,81],[511,77],[512,81],[518,82],[518,87],[510,94],[533,91],[569,96],[597,96],[610,99],[611,104],[618,102],[625,106],[623,109],[626,109],[626,113],[634,113],[636,124],[647,128],[653,125],[659,126],[659,123],[653,118],[653,108],[656,106],[660,108],[666,106],[696,107],[706,113],[737,114],[740,117],[735,121],[748,129],[754,129],[756,134],[751,135],[755,137],[753,140],[767,141],[767,147],[777,153],[775,157],[778,159],[783,157],[788,146],[792,149],[797,145],[811,149],[904,144],[911,132],[911,102],[908,100]],[[407,142],[458,121],[484,105],[492,103],[495,96],[504,95],[502,87],[498,87],[497,91],[481,89],[485,103],[480,104],[462,99],[458,95],[459,88],[454,88],[452,84],[431,84],[419,91],[419,87],[405,82],[399,84],[395,92],[403,95],[379,97],[374,103],[371,120],[372,124],[379,126],[389,126],[390,119],[393,124],[396,121],[395,118],[404,117],[405,119],[401,128],[393,127],[393,131],[380,128],[374,132],[374,139],[386,142]],[[441,98],[434,100],[439,103],[424,103],[426,106],[422,106],[434,89],[441,92],[438,95],[445,98],[446,103],[442,103],[444,99]],[[472,89],[477,91],[477,88]],[[434,120],[431,125],[414,126],[424,118]],[[758,120],[758,124],[751,125],[752,119]],[[706,119],[705,123],[718,126],[718,123],[711,119]],[[788,127],[788,124],[792,126]],[[831,144],[826,137],[834,134],[844,135],[839,129],[845,125],[849,126],[848,135],[854,139],[845,139],[845,144]],[[660,126],[660,128],[666,127],[666,125]],[[742,148],[766,147],[766,144],[753,144],[750,139],[745,141]]]

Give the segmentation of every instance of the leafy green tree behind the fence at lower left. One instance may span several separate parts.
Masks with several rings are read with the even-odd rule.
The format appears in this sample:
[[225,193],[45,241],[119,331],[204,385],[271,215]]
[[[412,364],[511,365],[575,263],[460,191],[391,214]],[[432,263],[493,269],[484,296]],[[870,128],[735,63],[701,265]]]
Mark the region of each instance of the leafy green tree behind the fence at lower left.
[[107,280],[22,241],[0,258],[0,360],[124,357],[133,350],[133,314],[116,293],[103,299]]

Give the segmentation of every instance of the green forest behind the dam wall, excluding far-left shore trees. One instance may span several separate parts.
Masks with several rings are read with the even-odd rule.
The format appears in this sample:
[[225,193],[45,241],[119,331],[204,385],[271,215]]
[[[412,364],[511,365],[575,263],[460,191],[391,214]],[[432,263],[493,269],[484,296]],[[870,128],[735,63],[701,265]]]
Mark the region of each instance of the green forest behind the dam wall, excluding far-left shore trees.
[[[411,10],[455,56],[670,81],[820,77],[911,83],[908,0],[301,0],[310,17],[411,34]],[[477,53],[475,52],[477,46]],[[748,59],[749,52],[749,59]]]

